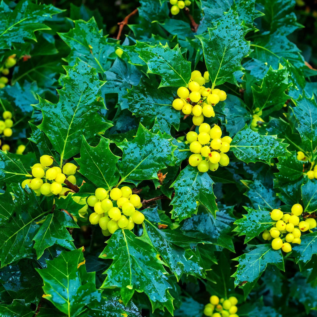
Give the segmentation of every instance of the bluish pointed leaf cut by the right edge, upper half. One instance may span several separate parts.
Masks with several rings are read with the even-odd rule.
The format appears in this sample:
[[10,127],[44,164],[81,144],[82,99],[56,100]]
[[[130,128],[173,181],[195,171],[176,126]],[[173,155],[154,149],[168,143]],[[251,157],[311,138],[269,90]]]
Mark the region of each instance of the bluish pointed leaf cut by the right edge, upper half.
[[303,144],[311,153],[317,145],[317,104],[314,99],[307,98],[305,95],[295,101],[296,107],[293,108],[295,118],[298,122],[296,129],[301,135]]

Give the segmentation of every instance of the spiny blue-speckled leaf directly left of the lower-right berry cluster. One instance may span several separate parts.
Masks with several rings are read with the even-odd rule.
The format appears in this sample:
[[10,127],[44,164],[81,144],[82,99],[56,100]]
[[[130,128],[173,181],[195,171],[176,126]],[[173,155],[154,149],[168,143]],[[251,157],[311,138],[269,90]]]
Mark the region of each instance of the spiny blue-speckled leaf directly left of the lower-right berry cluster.
[[233,230],[239,233],[239,236],[245,236],[244,243],[249,242],[261,232],[273,225],[270,213],[267,210],[256,210],[249,207],[244,207],[247,210],[247,215],[242,215],[242,218],[235,221],[237,227]]

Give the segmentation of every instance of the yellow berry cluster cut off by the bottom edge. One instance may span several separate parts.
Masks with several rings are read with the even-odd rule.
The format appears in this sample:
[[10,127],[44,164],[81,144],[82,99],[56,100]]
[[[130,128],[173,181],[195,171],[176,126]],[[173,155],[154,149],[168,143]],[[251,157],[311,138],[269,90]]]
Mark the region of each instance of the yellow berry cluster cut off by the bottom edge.
[[[204,314],[210,317],[239,317],[236,312],[238,308],[236,304],[238,300],[235,296],[228,299],[221,298],[216,295],[210,297],[210,303],[205,305]],[[214,312],[215,311],[215,312]]]

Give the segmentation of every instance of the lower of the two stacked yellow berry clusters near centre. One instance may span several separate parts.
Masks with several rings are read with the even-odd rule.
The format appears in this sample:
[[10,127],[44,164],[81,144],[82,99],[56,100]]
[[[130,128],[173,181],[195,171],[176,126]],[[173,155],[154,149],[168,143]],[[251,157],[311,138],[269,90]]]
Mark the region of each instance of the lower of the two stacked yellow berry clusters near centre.
[[190,131],[186,134],[186,140],[190,144],[189,149],[194,153],[188,159],[189,164],[197,166],[200,172],[216,171],[219,164],[227,166],[229,157],[225,153],[230,150],[232,139],[229,136],[221,137],[222,131],[220,127],[214,125],[210,128],[208,123],[202,123],[198,128],[198,132],[199,134],[195,131]]

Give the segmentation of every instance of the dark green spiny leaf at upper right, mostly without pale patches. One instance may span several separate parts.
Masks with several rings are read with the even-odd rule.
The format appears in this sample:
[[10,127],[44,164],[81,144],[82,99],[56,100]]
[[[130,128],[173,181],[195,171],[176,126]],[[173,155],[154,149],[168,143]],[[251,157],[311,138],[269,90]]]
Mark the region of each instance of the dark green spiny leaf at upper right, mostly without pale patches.
[[285,90],[290,85],[291,83],[288,83],[288,70],[286,67],[280,65],[277,70],[270,67],[262,80],[261,86],[252,86],[253,107],[265,108],[268,113],[281,109],[288,99]]

